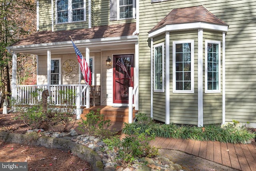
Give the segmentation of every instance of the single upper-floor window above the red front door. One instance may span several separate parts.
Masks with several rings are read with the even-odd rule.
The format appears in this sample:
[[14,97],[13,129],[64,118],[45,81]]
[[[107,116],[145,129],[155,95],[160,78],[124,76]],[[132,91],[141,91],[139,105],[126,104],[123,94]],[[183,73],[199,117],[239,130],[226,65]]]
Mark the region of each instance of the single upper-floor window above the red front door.
[[133,18],[133,0],[119,0],[119,18]]

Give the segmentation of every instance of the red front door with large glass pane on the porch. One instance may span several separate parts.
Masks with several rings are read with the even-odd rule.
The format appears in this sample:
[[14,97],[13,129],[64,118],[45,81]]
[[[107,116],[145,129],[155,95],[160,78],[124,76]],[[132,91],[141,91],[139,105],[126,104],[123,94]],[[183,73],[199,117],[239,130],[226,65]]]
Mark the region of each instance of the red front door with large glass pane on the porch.
[[113,55],[113,102],[128,103],[129,87],[134,85],[133,54]]

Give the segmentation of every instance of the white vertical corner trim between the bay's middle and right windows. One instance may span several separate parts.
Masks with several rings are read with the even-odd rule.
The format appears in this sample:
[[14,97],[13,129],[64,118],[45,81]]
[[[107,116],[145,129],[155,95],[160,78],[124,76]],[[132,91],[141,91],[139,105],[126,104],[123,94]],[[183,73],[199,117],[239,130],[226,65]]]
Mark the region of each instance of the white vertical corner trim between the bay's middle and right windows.
[[198,127],[203,125],[203,29],[198,29]]

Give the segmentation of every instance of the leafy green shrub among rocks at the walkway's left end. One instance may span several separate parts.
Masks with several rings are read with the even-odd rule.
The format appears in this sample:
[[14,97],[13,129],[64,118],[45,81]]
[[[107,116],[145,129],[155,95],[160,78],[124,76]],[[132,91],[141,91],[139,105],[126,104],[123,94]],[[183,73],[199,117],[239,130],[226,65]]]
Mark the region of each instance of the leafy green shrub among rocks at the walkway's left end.
[[126,135],[122,140],[118,136],[104,139],[107,153],[113,156],[113,161],[122,167],[127,167],[142,157],[159,155],[158,148],[150,146],[155,135],[149,135],[149,130],[140,133],[140,128],[133,130],[133,134]]

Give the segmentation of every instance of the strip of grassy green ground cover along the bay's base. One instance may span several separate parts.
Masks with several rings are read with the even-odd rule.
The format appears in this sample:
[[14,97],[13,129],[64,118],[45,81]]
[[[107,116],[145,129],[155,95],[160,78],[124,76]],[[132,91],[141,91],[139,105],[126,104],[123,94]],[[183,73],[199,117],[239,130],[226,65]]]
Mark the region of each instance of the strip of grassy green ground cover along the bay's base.
[[149,120],[145,114],[139,113],[137,122],[125,124],[123,133],[133,133],[140,128],[140,133],[155,134],[157,137],[193,139],[198,141],[220,141],[224,143],[250,143],[254,141],[256,132],[251,132],[246,126],[239,126],[233,121],[225,126],[204,125],[197,127],[191,125],[162,124]]

